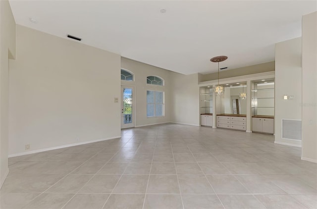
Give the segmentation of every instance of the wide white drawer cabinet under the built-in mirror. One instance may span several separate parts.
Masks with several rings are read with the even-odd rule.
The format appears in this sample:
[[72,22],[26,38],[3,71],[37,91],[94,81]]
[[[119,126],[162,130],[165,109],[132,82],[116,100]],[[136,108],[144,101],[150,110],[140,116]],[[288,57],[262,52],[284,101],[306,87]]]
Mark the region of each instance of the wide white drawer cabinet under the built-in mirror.
[[217,127],[246,130],[246,117],[217,116]]

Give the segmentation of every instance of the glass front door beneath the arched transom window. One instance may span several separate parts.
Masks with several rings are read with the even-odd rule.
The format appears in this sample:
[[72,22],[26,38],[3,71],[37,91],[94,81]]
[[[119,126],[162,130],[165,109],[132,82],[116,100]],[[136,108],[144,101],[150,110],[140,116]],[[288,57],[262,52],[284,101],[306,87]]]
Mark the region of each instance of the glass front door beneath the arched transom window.
[[121,128],[134,127],[133,86],[121,86]]

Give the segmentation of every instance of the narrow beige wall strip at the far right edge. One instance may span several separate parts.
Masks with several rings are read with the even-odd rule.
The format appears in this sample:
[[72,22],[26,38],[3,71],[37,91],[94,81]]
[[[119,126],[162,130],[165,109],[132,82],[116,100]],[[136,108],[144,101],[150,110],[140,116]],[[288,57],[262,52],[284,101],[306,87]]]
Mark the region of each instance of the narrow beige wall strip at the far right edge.
[[302,21],[302,159],[317,163],[317,12]]

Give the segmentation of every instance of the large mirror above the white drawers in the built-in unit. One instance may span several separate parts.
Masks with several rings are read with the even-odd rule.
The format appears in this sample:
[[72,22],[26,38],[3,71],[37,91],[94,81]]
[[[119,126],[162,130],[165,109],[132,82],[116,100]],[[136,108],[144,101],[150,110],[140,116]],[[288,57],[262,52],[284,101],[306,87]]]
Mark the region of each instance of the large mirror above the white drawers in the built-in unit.
[[239,94],[242,92],[247,92],[247,85],[224,87],[224,94],[220,97],[221,114],[247,114],[247,99],[239,97]]

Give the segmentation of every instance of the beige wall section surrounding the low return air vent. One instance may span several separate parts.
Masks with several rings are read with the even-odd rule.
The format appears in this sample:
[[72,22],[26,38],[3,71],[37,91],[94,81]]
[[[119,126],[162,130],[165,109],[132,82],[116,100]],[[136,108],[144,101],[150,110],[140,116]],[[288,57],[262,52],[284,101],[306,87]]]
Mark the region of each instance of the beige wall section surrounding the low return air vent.
[[[301,145],[282,138],[282,119],[302,119],[302,38],[275,44],[275,143]],[[283,96],[294,99],[284,100]]]

